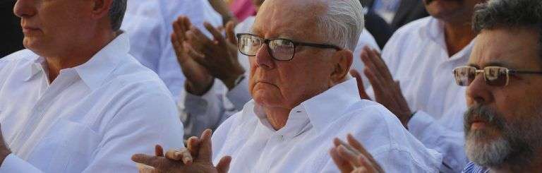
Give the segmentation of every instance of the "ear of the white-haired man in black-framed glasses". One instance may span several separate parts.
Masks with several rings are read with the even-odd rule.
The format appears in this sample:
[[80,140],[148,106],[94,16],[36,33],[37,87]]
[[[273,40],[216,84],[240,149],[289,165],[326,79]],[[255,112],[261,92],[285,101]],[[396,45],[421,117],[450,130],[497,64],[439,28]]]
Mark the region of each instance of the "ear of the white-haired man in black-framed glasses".
[[350,71],[350,66],[354,59],[354,55],[350,50],[339,50],[333,55],[335,63],[335,69],[331,73],[331,80],[333,83],[341,83],[344,79],[347,78],[347,75]]

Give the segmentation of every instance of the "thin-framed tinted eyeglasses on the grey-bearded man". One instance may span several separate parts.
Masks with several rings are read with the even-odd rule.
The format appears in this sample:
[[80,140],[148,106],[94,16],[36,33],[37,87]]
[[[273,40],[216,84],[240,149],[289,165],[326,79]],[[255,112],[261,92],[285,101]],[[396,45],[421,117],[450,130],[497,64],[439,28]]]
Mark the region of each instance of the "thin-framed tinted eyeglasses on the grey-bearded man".
[[459,66],[454,69],[454,78],[457,85],[469,86],[478,73],[483,73],[487,85],[506,86],[510,83],[510,76],[517,74],[542,75],[542,71],[517,71],[500,66],[486,66],[478,70],[474,66]]

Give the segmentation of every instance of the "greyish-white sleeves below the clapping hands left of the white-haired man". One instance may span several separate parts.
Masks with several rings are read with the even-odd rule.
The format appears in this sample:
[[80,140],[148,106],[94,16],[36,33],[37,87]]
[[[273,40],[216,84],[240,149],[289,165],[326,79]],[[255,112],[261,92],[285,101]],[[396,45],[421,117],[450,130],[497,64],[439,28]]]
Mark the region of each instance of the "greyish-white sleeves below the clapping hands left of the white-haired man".
[[[185,138],[200,136],[205,129],[216,129],[232,114],[241,111],[251,100],[248,93],[248,79],[245,78],[231,90],[215,80],[211,90],[204,95],[192,95],[186,90],[181,92],[179,110],[185,125]],[[226,89],[227,90],[227,89]],[[181,104],[181,103],[184,104]]]

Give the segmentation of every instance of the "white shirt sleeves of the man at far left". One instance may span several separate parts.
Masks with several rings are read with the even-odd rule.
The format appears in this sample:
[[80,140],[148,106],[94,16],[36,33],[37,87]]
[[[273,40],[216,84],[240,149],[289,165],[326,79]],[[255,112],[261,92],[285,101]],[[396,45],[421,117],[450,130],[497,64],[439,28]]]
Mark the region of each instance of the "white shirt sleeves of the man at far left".
[[[168,97],[169,101],[166,101],[164,98]],[[177,114],[173,99],[166,94],[144,93],[134,98],[113,114],[109,123],[100,127],[97,133],[102,140],[92,153],[92,160],[83,165],[83,172],[137,172],[132,155],[153,155],[153,146],[157,144],[165,150],[182,148],[183,126]],[[80,164],[85,163],[73,163],[68,167]],[[41,171],[12,154],[1,165],[0,172]]]

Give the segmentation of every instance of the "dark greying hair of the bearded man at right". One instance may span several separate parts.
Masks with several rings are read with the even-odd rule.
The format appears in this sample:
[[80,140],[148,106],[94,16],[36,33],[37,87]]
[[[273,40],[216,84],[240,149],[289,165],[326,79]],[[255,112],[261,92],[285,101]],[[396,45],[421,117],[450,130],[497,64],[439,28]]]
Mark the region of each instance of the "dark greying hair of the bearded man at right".
[[[542,48],[541,0],[490,0],[474,8],[473,29],[531,28],[538,30],[538,44]],[[542,56],[542,49],[540,49]]]

